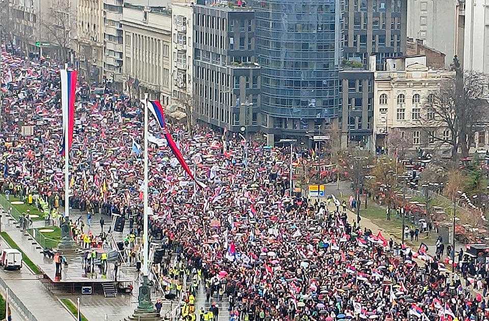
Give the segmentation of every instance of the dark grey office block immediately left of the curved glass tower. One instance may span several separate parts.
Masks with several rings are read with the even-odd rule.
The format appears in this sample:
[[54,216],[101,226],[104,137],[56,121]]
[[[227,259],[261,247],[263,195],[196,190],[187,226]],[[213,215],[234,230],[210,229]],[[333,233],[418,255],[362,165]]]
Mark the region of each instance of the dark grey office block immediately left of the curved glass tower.
[[[194,115],[230,131],[257,131],[255,13],[249,7],[203,3],[194,5]],[[186,56],[177,57],[177,64],[190,63]]]

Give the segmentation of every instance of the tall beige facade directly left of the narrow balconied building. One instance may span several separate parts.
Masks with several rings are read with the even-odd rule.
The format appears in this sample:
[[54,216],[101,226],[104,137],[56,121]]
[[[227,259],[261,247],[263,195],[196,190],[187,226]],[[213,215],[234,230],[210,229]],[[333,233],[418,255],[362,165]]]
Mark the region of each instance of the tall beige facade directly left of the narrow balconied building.
[[103,0],[78,0],[78,70],[91,82],[101,81],[103,68]]

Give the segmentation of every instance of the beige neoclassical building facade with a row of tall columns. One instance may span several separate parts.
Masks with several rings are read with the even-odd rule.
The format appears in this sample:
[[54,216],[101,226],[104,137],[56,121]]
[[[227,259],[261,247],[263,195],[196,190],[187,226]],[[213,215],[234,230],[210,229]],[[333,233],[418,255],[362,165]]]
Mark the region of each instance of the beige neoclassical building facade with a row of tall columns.
[[125,4],[124,88],[132,95],[157,99],[168,105],[171,99],[172,16],[166,7]]

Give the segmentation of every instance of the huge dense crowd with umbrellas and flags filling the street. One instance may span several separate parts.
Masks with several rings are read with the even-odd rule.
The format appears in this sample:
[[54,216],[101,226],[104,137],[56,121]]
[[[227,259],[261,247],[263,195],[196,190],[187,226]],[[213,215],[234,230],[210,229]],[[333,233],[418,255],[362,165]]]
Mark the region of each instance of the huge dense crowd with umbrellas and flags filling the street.
[[[2,47],[2,190],[36,195],[50,208],[64,204],[60,67]],[[130,233],[140,236],[141,104],[108,86],[95,95],[83,79],[76,92],[71,205],[126,217]],[[33,134],[23,135],[22,126],[34,126]],[[206,184],[189,180],[152,120],[149,228],[165,252],[154,270],[168,291],[184,297],[182,319],[215,321],[224,313],[240,321],[487,318],[486,298],[459,278],[452,282],[424,249],[395,253],[382,234],[350,224],[334,196],[320,203],[290,193],[287,147],[201,125],[189,132],[168,121],[167,129]],[[294,161],[309,156],[293,154]],[[81,243],[93,242],[83,227],[72,228],[84,233]],[[180,282],[169,280],[182,278],[187,288],[173,289]],[[208,302],[226,301],[228,311],[220,303],[191,309],[199,286]]]

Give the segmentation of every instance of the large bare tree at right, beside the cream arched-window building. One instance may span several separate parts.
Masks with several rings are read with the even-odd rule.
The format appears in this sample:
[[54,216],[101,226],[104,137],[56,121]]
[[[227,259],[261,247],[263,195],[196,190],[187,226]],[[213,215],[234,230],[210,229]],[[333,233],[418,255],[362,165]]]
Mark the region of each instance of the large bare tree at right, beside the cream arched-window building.
[[[474,134],[480,130],[481,120],[489,115],[488,78],[478,72],[467,72],[465,75],[455,67],[456,76],[440,86],[440,91],[428,97],[425,121],[428,137],[435,142],[451,146],[452,161],[458,159],[458,148],[461,156],[467,157]],[[432,128],[444,127],[449,135],[437,135]]]

